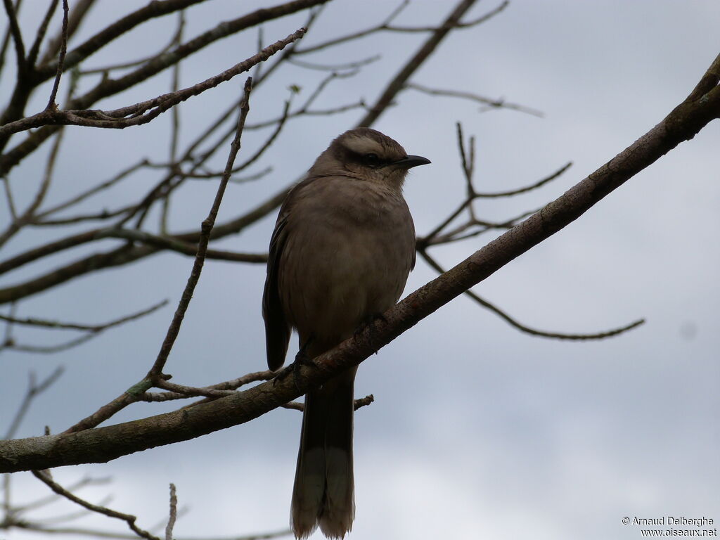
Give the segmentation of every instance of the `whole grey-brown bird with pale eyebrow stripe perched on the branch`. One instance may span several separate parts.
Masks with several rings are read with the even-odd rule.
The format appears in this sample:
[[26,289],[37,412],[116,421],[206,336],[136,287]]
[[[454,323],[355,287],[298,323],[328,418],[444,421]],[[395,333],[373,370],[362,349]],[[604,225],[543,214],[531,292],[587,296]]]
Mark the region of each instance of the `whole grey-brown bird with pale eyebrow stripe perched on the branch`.
[[[415,228],[402,197],[408,156],[369,128],[343,133],[282,204],[263,295],[270,369],[284,363],[292,328],[308,358],[353,336],[395,305],[415,265]],[[354,518],[355,369],[305,397],[292,495],[297,538],[318,525],[341,538]]]

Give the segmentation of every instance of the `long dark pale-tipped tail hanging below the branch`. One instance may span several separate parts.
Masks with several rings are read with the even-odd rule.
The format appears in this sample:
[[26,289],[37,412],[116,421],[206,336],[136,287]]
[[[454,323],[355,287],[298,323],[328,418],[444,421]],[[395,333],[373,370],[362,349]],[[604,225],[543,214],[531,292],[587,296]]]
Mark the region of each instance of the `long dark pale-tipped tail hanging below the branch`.
[[298,539],[318,525],[328,538],[343,538],[352,528],[354,378],[351,370],[305,397],[291,510]]

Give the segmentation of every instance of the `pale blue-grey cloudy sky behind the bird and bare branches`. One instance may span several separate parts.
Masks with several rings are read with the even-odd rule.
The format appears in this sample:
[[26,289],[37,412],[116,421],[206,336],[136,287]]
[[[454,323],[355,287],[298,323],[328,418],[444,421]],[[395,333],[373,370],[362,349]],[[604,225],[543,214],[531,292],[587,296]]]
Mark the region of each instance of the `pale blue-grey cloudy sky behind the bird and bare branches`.
[[[99,1],[77,42],[143,4]],[[263,4],[209,1],[189,10],[186,36]],[[480,2],[466,18],[495,5]],[[303,41],[310,46],[369,27],[393,6],[379,0],[335,0]],[[397,24],[436,24],[450,6],[413,0]],[[268,24],[265,43],[293,32],[306,16]],[[37,17],[26,9],[22,24],[36,24]],[[409,153],[433,161],[415,169],[405,188],[418,234],[432,230],[462,200],[456,122],[477,140],[476,181],[484,192],[531,184],[572,161],[564,176],[542,189],[513,199],[481,200],[476,210],[481,219],[503,220],[541,207],[685,98],[720,50],[719,19],[713,0],[513,0],[489,22],[452,34],[415,73],[414,83],[503,97],[539,109],[544,117],[479,112],[472,102],[413,90],[400,94],[374,127]],[[84,68],[147,55],[174,29],[173,17],[145,24],[89,58]],[[379,33],[307,55],[308,61],[341,63],[382,54],[357,76],[328,86],[323,107],[360,97],[373,102],[425,37]],[[253,30],[203,50],[183,65],[181,84],[189,86],[247,58],[256,41]],[[12,67],[11,60],[1,73],[4,99]],[[253,95],[248,123],[276,117],[291,84],[302,87],[295,98],[302,101],[322,76],[302,68],[278,73]],[[182,105],[184,142],[202,129],[204,118],[237,98],[242,81],[235,78]],[[95,107],[148,99],[167,91],[168,84],[163,74]],[[47,92],[40,94],[30,110],[42,107]],[[354,109],[291,123],[274,152],[253,169],[273,166],[273,173],[232,186],[219,220],[239,215],[296,179],[361,114]],[[166,114],[142,128],[68,129],[51,199],[80,192],[145,156],[165,160],[169,121]],[[375,402],[356,414],[357,510],[349,538],[636,539],[640,528],[623,526],[624,516],[720,520],[719,126],[708,126],[474,289],[532,328],[592,333],[647,319],[640,328],[603,341],[538,338],[461,297],[361,366],[356,394],[372,393]],[[249,155],[266,134],[248,132],[243,152]],[[225,161],[226,154],[220,154],[216,168]],[[43,156],[10,176],[19,204],[32,198],[28,188],[37,185]],[[107,194],[102,204],[117,207],[119,201],[131,201],[157,179],[157,171],[141,171]],[[214,194],[210,182],[188,186],[176,199],[171,229],[197,228]],[[0,212],[6,212],[5,202],[1,204]],[[0,218],[6,220],[6,214]],[[264,251],[274,218],[219,246]],[[67,230],[29,230],[4,248],[3,258],[65,234]],[[449,267],[490,238],[472,238],[433,253]],[[99,244],[115,245],[111,240]],[[0,287],[42,274],[80,253],[7,274]],[[40,434],[45,425],[62,431],[143,377],[191,266],[191,258],[163,254],[23,301],[18,315],[85,322],[110,320],[164,298],[170,305],[63,354],[4,351],[0,431],[22,398],[30,370],[42,377],[58,365],[66,368],[52,390],[33,403],[20,436]],[[434,276],[418,262],[406,293]],[[166,368],[174,381],[203,386],[264,368],[263,282],[261,265],[207,262]],[[6,313],[8,307],[0,310]],[[57,343],[63,338],[37,330],[17,332],[18,341]],[[170,408],[135,405],[113,421],[165,410]],[[178,537],[277,531],[287,526],[299,431],[299,413],[276,410],[194,441],[109,464],[56,469],[54,474],[63,483],[85,475],[112,476],[111,484],[81,495],[96,502],[112,493],[112,507],[138,515],[143,527],[163,518],[168,483],[174,482],[181,505],[188,508],[176,525]],[[14,475],[13,488],[17,503],[46,492],[30,474]],[[70,509],[58,503],[42,515]],[[105,518],[82,523],[124,530]],[[11,531],[6,537],[32,535]]]

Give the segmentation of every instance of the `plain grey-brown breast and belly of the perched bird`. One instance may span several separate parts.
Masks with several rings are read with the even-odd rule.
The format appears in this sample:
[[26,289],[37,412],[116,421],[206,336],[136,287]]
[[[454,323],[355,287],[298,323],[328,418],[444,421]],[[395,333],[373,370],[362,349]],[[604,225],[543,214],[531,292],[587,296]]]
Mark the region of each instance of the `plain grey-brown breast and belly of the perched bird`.
[[[405,200],[382,190],[349,189],[346,197],[308,197],[294,209],[279,265],[289,320],[300,335],[341,341],[395,305],[415,254]],[[325,199],[326,204],[318,204]],[[302,210],[302,212],[295,212]],[[291,294],[283,294],[285,291]]]

